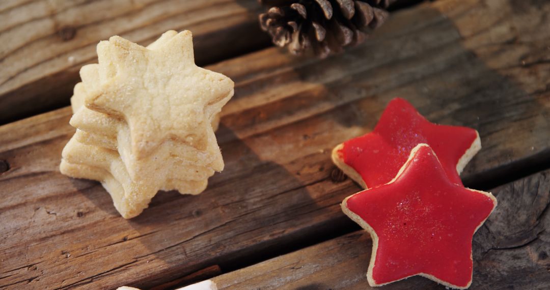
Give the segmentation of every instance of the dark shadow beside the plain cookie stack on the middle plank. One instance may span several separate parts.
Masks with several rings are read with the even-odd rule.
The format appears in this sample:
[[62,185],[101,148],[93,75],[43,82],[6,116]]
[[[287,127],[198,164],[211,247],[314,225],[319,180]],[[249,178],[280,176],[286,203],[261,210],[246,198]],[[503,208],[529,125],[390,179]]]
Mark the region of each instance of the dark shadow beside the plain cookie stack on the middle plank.
[[[226,136],[231,134],[223,125],[219,130],[224,131]],[[133,280],[131,285],[139,288],[178,280],[182,275],[189,275],[190,272],[213,264],[227,265],[223,266],[224,269],[231,269],[233,263],[254,264],[273,256],[270,253],[272,248],[277,248],[279,243],[292,241],[294,238],[290,237],[296,235],[292,224],[274,231],[271,230],[273,225],[292,222],[299,215],[310,211],[315,211],[316,216],[324,215],[326,209],[317,206],[316,200],[310,197],[307,184],[296,179],[284,166],[259,159],[254,152],[259,148],[250,148],[235,136],[231,139],[221,147],[226,169],[210,179],[207,191],[198,196],[182,196],[174,191],[160,192],[140,216],[119,221],[131,227],[131,230],[112,232],[111,235],[119,238],[108,244],[109,252],[134,255],[130,263],[125,263],[120,270],[115,268],[105,271],[64,287],[83,287],[118,271],[129,274],[132,267],[142,263],[161,267],[163,271],[162,275]],[[322,165],[310,166],[328,175],[329,170],[315,167]],[[82,180],[71,182],[78,187],[83,187],[82,183],[93,183]],[[108,219],[120,219],[111,198],[101,186],[78,192],[89,199],[84,204],[94,204],[103,211],[101,215],[108,216]],[[79,212],[86,215],[85,211]],[[169,230],[162,231],[163,228]],[[307,228],[300,228],[298,235],[308,235],[308,232]],[[244,247],[235,252],[229,246],[233,243],[243,244]],[[72,247],[75,246],[73,243]],[[62,252],[80,258],[80,255],[69,250]],[[189,259],[191,256],[200,258]],[[105,253],[100,256],[100,253],[92,252],[86,254],[86,258],[105,260],[106,257]],[[107,259],[108,264],[116,263],[115,260]]]

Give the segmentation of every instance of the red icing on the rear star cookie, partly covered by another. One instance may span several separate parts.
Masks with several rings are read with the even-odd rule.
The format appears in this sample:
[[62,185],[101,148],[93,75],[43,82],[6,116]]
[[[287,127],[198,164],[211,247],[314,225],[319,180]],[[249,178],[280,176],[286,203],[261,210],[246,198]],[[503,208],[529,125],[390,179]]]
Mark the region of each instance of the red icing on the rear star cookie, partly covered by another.
[[412,148],[426,143],[436,152],[449,179],[462,185],[456,164],[477,138],[474,129],[432,124],[401,98],[389,102],[371,133],[344,142],[340,154],[367,187],[389,182]]

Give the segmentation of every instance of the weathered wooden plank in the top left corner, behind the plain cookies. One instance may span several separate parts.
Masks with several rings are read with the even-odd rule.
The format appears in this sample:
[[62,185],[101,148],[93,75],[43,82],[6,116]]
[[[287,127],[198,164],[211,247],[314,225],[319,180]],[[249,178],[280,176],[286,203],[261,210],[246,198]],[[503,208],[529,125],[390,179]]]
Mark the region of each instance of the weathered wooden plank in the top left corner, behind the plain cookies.
[[199,64],[270,44],[257,24],[263,8],[255,1],[5,4],[0,9],[0,124],[67,105],[80,66],[97,62],[96,44],[112,35],[149,44],[164,31],[188,29],[194,34]]

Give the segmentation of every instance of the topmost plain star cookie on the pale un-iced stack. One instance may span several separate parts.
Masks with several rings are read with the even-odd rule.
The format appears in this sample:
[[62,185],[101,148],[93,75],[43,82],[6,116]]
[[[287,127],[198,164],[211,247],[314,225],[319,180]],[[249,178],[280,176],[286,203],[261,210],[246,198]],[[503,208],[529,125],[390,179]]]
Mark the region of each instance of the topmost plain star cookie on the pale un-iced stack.
[[155,49],[119,36],[97,46],[100,82],[86,107],[128,123],[136,159],[168,140],[204,150],[211,116],[233,94],[227,76],[195,65],[191,32],[165,38]]

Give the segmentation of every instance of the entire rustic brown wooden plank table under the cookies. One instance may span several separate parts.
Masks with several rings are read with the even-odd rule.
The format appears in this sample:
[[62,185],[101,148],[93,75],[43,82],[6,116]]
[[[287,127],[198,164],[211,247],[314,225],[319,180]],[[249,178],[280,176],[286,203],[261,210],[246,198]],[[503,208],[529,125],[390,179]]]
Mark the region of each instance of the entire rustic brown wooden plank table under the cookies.
[[[549,287],[550,2],[420,3],[325,60],[268,47],[254,1],[26,2],[0,3],[4,122],[68,104],[78,68],[113,34],[147,44],[190,29],[199,63],[231,77],[235,97],[217,132],[226,169],[199,196],[160,193],[131,220],[97,182],[59,173],[68,107],[0,126],[0,288],[366,289],[370,237],[339,206],[359,187],[338,179],[330,151],[372,130],[395,96],[480,132],[463,180],[499,204],[474,237],[471,288]],[[381,289],[410,288],[443,287]]]

